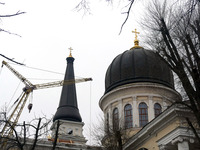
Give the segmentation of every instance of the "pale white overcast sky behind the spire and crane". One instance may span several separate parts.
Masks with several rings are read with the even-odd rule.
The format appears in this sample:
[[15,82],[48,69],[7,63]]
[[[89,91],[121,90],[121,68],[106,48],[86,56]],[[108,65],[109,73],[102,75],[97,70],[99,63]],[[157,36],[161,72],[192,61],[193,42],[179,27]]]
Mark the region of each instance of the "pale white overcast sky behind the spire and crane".
[[[64,78],[69,47],[73,48],[75,76],[93,78],[92,82],[76,85],[78,106],[85,122],[84,135],[88,140],[89,133],[86,131],[92,123],[97,122],[96,118],[101,112],[98,102],[104,94],[106,70],[118,54],[133,46],[134,34],[131,31],[137,28],[142,32],[136,23],[142,8],[139,3],[133,5],[130,18],[119,35],[121,24],[126,17],[121,14],[126,11],[123,8],[126,3],[119,4],[116,1],[110,6],[103,0],[93,1],[90,3],[91,14],[84,17],[83,12],[74,11],[79,0],[6,0],[5,5],[0,5],[1,15],[13,14],[19,10],[26,12],[20,16],[1,19],[1,28],[21,37],[0,32],[0,53],[29,67],[61,73],[12,65],[33,84]],[[142,42],[140,36],[139,40]],[[0,61],[2,60],[6,59],[0,57]],[[20,80],[6,67],[1,70],[0,106],[8,105],[9,102],[11,106],[19,97],[24,87],[23,83],[19,83]],[[29,114],[28,100],[19,122],[28,122],[43,114],[52,117],[58,107],[60,93],[61,87],[34,91],[30,96],[33,109]]]

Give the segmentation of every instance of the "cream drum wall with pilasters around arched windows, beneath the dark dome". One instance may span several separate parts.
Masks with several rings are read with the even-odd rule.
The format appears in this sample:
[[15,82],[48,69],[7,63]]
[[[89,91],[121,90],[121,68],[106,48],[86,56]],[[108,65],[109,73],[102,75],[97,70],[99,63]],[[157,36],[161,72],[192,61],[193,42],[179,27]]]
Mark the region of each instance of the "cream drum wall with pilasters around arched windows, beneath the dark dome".
[[99,102],[104,112],[105,120],[113,126],[113,110],[119,110],[119,125],[124,126],[124,107],[132,106],[132,127],[140,127],[139,104],[145,103],[148,110],[148,122],[155,118],[154,105],[157,103],[164,111],[175,101],[180,101],[181,96],[175,90],[156,83],[132,83],[106,93]]

